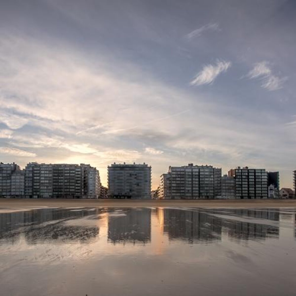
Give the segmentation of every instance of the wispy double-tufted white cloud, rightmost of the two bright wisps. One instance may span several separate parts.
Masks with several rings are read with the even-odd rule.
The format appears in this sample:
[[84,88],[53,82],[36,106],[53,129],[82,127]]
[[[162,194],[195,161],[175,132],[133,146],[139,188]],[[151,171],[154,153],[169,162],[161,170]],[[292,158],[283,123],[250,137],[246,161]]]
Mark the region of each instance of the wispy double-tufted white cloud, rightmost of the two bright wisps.
[[254,67],[247,74],[250,79],[258,78],[262,80],[261,87],[268,91],[275,91],[283,87],[283,83],[287,80],[287,77],[279,77],[272,73],[269,62],[262,61],[255,63]]

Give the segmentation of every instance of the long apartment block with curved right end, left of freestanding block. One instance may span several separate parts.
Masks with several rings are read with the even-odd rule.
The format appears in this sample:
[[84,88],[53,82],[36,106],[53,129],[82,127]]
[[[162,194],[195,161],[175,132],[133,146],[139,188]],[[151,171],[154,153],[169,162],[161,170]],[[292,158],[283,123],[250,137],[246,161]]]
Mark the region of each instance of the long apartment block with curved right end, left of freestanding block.
[[98,198],[99,171],[90,165],[29,163],[25,168],[27,198]]

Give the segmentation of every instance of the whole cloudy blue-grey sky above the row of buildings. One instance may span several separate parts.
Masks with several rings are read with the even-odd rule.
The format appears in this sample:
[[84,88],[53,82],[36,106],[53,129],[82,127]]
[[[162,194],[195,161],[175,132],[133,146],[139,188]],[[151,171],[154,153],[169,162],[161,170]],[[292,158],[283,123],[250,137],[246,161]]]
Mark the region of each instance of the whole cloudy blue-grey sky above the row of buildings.
[[0,159],[296,169],[296,2],[0,0]]

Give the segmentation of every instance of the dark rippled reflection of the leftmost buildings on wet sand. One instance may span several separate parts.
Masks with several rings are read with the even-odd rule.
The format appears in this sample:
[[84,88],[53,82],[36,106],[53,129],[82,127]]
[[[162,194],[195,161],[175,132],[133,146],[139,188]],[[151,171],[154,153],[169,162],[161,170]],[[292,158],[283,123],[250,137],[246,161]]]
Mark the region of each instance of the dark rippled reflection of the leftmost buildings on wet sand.
[[[101,212],[96,209],[92,214]],[[18,241],[25,235],[28,243],[46,241],[85,241],[99,234],[98,227],[67,226],[67,220],[82,218],[85,210],[39,209],[0,214],[0,244]]]

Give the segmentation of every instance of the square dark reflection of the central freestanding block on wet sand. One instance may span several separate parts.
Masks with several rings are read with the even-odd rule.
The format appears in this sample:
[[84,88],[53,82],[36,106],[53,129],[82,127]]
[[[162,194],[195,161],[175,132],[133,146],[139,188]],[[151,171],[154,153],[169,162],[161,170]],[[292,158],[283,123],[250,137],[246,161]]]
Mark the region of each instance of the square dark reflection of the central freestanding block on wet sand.
[[108,241],[143,242],[151,240],[151,209],[127,209],[122,213],[108,215]]

